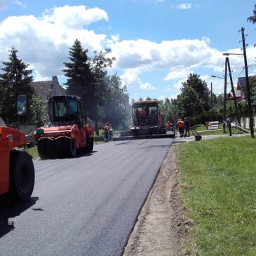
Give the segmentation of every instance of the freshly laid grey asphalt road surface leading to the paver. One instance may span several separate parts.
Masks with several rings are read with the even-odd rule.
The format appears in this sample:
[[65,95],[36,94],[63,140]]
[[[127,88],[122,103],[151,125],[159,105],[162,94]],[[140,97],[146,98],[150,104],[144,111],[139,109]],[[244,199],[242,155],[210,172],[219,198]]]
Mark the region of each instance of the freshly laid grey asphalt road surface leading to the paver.
[[172,142],[107,142],[76,159],[34,161],[32,198],[0,198],[0,255],[122,255]]

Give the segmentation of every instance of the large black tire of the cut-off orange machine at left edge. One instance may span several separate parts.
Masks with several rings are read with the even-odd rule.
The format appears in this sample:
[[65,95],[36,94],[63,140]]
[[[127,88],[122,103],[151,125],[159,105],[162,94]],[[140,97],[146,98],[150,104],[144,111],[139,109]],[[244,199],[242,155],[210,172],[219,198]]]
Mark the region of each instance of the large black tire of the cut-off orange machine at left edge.
[[13,151],[10,158],[10,187],[6,197],[13,203],[26,201],[34,189],[34,164],[25,151]]

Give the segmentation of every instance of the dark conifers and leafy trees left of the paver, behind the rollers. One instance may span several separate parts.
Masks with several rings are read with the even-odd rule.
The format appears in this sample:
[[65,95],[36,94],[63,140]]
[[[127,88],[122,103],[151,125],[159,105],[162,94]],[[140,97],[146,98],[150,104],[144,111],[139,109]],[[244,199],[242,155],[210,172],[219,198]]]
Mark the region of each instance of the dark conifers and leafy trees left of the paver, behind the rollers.
[[[93,52],[75,40],[69,48],[69,62],[63,63],[62,70],[67,77],[65,88],[67,95],[81,97],[83,117],[95,123],[95,131],[102,123],[111,123],[114,128],[128,125],[130,120],[130,102],[126,85],[117,74],[109,75],[107,67],[112,67],[115,58],[107,58],[109,50]],[[31,82],[34,80],[32,69],[18,58],[18,50],[13,46],[9,50],[8,61],[1,62],[0,74],[0,115],[6,123],[27,123],[33,120],[37,126],[48,121],[46,106],[40,95],[36,94]],[[27,95],[27,114],[18,116],[16,101],[20,94]]]

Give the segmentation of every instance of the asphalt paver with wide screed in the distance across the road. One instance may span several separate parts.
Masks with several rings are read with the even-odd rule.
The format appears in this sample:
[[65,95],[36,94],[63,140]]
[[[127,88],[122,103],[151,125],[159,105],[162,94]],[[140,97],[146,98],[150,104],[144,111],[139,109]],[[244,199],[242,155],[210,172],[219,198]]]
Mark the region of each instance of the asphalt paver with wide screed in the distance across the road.
[[166,132],[163,115],[156,100],[132,102],[133,123],[129,130],[114,135],[113,140],[135,139],[143,137],[175,137],[175,127]]

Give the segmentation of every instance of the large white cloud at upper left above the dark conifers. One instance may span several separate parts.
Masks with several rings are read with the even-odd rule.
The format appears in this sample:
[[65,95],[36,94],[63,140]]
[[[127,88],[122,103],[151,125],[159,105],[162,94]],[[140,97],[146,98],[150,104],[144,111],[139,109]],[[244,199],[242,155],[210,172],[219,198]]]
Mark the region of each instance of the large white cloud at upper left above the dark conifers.
[[34,79],[61,76],[63,62],[69,61],[69,47],[75,39],[90,53],[105,48],[107,36],[85,28],[98,20],[108,20],[107,13],[85,6],[56,7],[43,13],[41,18],[10,16],[0,23],[1,60],[7,59],[8,50],[15,46],[18,57],[36,70]]

